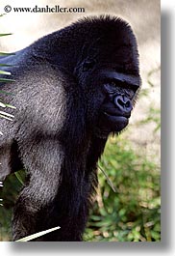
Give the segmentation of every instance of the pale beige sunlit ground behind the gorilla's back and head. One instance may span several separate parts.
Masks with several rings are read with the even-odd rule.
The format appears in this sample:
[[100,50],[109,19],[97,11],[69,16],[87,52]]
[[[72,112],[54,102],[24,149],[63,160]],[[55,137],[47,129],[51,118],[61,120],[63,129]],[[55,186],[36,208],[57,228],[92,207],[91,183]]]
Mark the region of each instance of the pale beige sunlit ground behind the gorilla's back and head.
[[[66,4],[65,4],[66,2]],[[152,106],[160,108],[161,103],[161,11],[160,0],[1,0],[0,14],[4,7],[83,7],[84,14],[29,14],[11,13],[0,19],[0,33],[13,33],[13,36],[0,40],[0,49],[15,51],[36,41],[39,37],[56,31],[77,20],[79,17],[91,14],[114,14],[126,19],[133,27],[138,43],[140,74],[142,89],[148,90],[148,97],[138,99],[127,136],[134,146],[140,147],[147,156],[156,156],[160,162],[160,134],[153,132],[155,124],[139,126]],[[151,72],[151,75],[149,75]],[[150,86],[148,80],[153,84]]]

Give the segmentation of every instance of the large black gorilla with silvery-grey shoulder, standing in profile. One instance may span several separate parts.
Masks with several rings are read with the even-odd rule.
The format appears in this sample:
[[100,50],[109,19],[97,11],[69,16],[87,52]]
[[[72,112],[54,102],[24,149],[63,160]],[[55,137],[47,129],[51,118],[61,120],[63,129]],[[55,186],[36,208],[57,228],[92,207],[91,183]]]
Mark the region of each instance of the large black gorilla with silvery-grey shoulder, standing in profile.
[[133,30],[115,16],[84,17],[0,63],[15,80],[1,82],[1,101],[16,107],[0,121],[0,181],[26,170],[13,240],[60,226],[36,241],[82,241],[97,161],[128,125],[141,83]]

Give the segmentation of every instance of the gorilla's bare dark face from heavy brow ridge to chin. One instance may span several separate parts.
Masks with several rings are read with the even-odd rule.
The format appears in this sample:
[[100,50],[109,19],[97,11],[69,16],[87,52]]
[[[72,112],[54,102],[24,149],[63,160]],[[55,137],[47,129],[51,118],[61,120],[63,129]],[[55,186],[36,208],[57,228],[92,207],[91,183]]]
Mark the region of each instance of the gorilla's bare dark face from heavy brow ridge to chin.
[[97,107],[96,133],[106,137],[110,132],[119,132],[128,125],[139,79],[134,75],[106,69],[99,72],[95,84],[101,94]]

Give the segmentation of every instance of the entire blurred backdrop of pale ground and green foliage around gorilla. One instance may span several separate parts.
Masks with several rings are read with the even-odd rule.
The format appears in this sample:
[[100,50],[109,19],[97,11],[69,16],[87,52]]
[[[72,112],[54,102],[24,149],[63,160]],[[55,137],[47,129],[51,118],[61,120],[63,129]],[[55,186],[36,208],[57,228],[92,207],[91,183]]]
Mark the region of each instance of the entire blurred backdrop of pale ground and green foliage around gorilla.
[[[160,0],[1,0],[4,8],[84,8],[84,13],[12,12],[0,17],[0,51],[19,50],[82,16],[113,14],[127,20],[136,36],[142,90],[130,126],[109,139],[99,166],[99,187],[90,213],[85,241],[158,242],[161,240],[160,103],[161,11]],[[13,204],[21,183],[12,175],[0,191],[0,241],[11,241]]]

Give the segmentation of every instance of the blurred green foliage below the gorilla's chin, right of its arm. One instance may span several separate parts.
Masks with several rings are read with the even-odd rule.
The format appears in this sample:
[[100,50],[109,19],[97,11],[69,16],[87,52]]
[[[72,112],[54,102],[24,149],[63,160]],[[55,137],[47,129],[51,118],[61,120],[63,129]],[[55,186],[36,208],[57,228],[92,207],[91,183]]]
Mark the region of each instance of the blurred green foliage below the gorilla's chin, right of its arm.
[[111,138],[99,165],[98,196],[90,213],[86,241],[159,242],[161,240],[160,172],[135,153],[124,139]]

